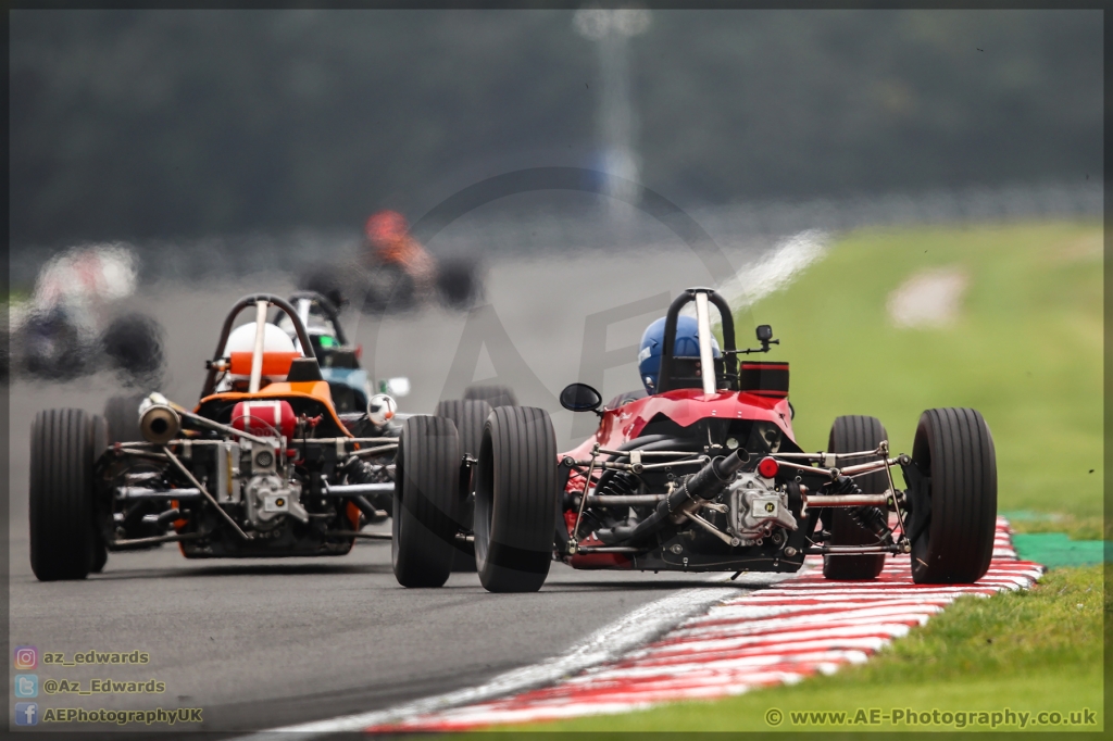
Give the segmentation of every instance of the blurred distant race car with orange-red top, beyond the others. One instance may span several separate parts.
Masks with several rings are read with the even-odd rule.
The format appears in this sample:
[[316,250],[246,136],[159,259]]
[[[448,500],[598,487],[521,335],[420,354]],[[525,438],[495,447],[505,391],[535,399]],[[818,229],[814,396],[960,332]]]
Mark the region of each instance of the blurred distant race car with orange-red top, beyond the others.
[[373,214],[355,259],[323,265],[298,279],[299,287],[367,314],[407,312],[433,303],[469,309],[482,289],[474,260],[435,258],[410,234],[397,211]]

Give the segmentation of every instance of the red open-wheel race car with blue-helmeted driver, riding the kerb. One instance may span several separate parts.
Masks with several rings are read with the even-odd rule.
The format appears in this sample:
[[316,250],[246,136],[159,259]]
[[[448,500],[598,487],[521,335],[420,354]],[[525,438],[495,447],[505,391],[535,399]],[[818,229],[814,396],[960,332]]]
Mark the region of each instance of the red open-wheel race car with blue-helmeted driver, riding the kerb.
[[[690,303],[695,320],[680,316]],[[808,453],[792,432],[788,364],[739,363],[778,343],[767,325],[757,328],[761,347],[738,349],[730,309],[708,288],[682,293],[654,325],[662,335],[643,339],[640,356],[653,366],[643,372],[647,393],[605,407],[584,384],[561,394],[565,408],[600,417],[573,451],[558,454],[549,414],[532,407],[493,408],[477,453],[463,458],[455,435],[403,433],[400,582],[442,584],[460,542],[473,543],[480,580],[493,592],[540,589],[553,560],[575,569],[795,572],[806,555],[821,554],[828,579],[868,580],[886,556],[909,554],[918,583],[972,583],[986,572],[996,463],[978,412],[924,412],[912,455],[892,454],[878,419],[843,416],[827,449]],[[415,464],[441,473],[411,481]],[[422,567],[400,570],[397,554],[403,566]]]

